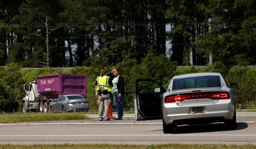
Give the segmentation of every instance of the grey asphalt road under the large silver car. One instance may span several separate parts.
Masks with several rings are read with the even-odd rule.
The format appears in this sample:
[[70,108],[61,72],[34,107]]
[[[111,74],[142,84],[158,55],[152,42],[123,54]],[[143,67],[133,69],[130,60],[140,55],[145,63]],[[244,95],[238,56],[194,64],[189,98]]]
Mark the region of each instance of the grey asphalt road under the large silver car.
[[[0,144],[252,144],[256,145],[256,112],[237,112],[236,130],[225,124],[182,125],[164,134],[161,120],[135,121],[134,114],[123,120],[23,122],[0,124]],[[116,115],[113,115],[116,116]]]

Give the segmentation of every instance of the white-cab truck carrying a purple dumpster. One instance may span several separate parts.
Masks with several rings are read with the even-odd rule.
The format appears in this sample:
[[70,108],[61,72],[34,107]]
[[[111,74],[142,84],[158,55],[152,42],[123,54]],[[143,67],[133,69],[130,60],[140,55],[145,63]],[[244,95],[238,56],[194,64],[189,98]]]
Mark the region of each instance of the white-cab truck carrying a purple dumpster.
[[[27,86],[29,86],[27,90]],[[22,99],[22,111],[50,112],[51,103],[60,95],[80,94],[86,97],[87,75],[54,74],[36,76],[36,80],[24,84],[26,96]]]

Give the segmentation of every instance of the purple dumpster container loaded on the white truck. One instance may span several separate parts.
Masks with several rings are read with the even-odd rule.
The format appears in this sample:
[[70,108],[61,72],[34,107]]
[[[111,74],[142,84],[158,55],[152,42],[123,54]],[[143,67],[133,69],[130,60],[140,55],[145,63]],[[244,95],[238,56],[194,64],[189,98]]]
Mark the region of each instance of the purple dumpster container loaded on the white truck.
[[42,96],[58,97],[64,94],[86,96],[87,75],[54,74],[36,76],[37,92]]

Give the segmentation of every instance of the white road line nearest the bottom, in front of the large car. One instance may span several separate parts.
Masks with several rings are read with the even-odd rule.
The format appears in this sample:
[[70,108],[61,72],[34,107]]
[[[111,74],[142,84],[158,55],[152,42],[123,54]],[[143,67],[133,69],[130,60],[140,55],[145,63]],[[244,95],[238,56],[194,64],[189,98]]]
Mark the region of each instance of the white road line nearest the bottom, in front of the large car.
[[256,134],[94,134],[94,135],[0,135],[0,137],[79,137],[79,136],[256,136]]

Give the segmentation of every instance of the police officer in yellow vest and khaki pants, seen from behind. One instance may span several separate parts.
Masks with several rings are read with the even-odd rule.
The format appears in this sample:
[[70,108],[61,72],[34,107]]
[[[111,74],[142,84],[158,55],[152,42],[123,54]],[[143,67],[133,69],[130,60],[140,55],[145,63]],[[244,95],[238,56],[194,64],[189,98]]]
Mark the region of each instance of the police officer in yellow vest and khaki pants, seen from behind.
[[108,117],[108,108],[111,101],[111,96],[113,94],[113,83],[110,77],[106,76],[106,70],[102,69],[101,74],[96,79],[95,83],[95,92],[96,97],[98,98],[97,103],[99,105],[99,121],[103,120],[103,107],[104,108],[104,117],[105,121],[110,120]]

